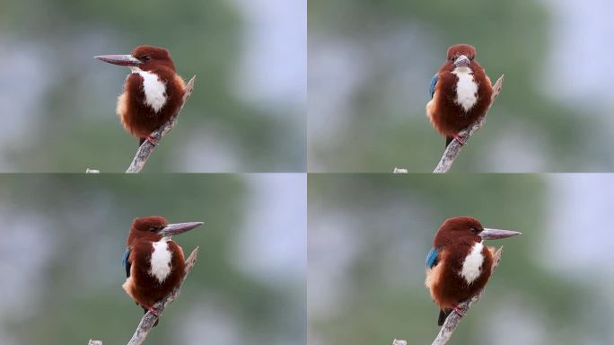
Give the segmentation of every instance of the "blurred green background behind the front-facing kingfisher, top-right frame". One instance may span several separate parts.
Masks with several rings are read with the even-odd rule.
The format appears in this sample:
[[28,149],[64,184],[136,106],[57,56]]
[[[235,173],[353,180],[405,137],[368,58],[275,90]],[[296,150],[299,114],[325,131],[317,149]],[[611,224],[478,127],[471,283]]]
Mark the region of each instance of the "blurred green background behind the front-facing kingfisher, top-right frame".
[[446,49],[470,43],[503,91],[454,172],[610,172],[614,2],[311,0],[309,171],[432,172],[425,117]]

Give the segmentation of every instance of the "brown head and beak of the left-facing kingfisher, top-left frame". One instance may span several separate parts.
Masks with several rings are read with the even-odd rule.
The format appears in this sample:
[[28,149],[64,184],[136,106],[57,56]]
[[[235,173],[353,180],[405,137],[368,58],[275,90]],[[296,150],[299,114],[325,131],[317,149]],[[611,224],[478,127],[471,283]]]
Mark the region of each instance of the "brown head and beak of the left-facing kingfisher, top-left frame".
[[175,71],[175,65],[172,63],[169,51],[154,46],[138,46],[130,54],[101,55],[94,58],[113,65],[127,66],[133,70],[138,68],[143,71],[151,71],[157,67],[165,66],[173,72]]

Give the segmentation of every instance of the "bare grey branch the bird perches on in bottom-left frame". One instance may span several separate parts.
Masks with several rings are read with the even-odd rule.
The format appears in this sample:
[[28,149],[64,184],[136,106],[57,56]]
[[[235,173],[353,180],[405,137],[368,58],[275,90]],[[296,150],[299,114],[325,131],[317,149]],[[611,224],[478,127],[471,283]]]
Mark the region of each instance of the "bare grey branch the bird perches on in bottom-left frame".
[[[162,315],[162,312],[164,311],[164,309],[166,309],[168,305],[170,305],[175,299],[177,299],[177,297],[180,296],[181,286],[183,285],[183,282],[186,281],[189,271],[192,270],[192,268],[196,264],[197,254],[198,254],[198,247],[196,247],[192,251],[192,253],[189,254],[189,257],[186,260],[185,273],[183,274],[183,278],[181,279],[180,284],[177,287],[173,288],[169,295],[165,296],[159,302],[153,305],[153,308],[155,308],[158,311],[158,314]],[[158,316],[154,315],[152,312],[147,312],[145,315],[143,315],[141,322],[138,323],[138,327],[136,327],[135,333],[132,335],[132,339],[128,341],[127,345],[143,344],[143,342],[145,341],[145,338],[147,337],[147,334],[149,334],[149,332],[152,330],[153,323],[155,323],[156,320],[158,320]],[[102,341],[90,340],[88,344],[89,345],[102,345]]]

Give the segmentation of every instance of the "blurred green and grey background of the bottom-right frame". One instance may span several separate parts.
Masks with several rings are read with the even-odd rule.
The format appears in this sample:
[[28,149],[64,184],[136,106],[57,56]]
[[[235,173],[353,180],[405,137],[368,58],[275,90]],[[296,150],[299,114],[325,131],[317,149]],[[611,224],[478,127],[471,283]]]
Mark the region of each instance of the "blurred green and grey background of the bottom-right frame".
[[521,231],[451,344],[612,344],[614,177],[309,176],[308,342],[430,344],[425,255],[448,217]]

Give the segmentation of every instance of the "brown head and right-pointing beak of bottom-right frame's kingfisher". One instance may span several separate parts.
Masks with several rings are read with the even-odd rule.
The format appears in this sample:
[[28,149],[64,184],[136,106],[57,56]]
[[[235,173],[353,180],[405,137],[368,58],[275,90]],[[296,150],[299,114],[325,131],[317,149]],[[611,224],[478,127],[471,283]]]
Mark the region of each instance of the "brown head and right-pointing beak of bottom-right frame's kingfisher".
[[474,217],[453,217],[446,219],[435,234],[434,247],[440,248],[452,243],[477,243],[518,234],[522,233],[484,227]]

